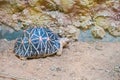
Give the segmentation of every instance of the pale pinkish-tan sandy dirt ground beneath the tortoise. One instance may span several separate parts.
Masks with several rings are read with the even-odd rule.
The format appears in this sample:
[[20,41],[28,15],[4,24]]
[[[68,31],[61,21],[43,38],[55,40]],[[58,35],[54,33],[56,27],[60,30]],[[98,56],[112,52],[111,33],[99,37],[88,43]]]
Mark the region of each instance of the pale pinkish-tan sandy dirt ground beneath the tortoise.
[[120,80],[120,43],[73,42],[61,56],[20,60],[0,40],[0,80]]

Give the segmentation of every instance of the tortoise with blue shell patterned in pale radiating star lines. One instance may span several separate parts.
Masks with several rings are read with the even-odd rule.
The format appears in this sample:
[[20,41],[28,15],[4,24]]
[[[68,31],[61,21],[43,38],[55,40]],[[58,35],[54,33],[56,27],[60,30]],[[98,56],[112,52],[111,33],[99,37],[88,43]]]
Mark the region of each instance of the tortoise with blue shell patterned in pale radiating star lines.
[[61,55],[62,49],[69,42],[46,27],[30,27],[22,31],[16,39],[14,52],[22,60]]

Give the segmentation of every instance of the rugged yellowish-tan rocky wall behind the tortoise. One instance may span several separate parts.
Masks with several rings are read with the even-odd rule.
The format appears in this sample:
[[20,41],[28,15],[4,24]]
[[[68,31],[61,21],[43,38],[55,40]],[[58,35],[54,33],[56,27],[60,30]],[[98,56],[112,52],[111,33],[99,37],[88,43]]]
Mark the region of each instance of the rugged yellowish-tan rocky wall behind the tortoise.
[[78,40],[80,30],[95,38],[120,37],[119,0],[0,0],[0,24],[14,30],[46,26]]

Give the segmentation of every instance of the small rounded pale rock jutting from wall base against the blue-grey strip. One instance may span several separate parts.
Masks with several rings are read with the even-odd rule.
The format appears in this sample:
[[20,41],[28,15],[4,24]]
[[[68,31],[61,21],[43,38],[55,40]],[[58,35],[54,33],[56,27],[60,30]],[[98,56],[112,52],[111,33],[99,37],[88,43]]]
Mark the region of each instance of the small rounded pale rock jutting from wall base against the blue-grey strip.
[[103,38],[105,36],[105,31],[103,28],[99,27],[99,26],[95,26],[91,29],[92,35],[95,38]]

